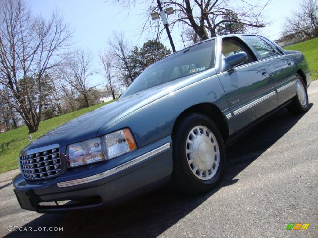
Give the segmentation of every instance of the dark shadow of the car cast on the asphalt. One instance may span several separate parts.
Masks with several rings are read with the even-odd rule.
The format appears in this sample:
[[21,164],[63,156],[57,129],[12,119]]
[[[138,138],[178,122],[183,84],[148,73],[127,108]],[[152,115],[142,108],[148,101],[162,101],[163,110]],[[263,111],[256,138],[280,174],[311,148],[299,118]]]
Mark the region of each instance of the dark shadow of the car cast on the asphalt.
[[[309,106],[311,108],[313,104]],[[22,227],[63,227],[60,232],[13,231],[5,237],[157,237],[213,197],[219,189],[238,182],[235,177],[287,133],[303,115],[292,116],[284,109],[227,148],[223,180],[210,193],[180,195],[168,185],[115,208],[45,214]]]

